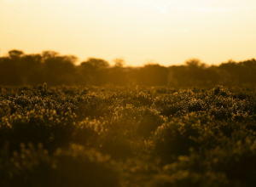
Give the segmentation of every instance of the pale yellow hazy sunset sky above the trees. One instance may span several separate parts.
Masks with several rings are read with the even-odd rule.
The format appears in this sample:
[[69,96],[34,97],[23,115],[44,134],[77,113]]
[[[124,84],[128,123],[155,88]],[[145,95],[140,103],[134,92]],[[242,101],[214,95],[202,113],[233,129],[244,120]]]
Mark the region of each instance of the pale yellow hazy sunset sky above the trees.
[[256,58],[255,0],[0,0],[1,56],[54,50],[180,65]]

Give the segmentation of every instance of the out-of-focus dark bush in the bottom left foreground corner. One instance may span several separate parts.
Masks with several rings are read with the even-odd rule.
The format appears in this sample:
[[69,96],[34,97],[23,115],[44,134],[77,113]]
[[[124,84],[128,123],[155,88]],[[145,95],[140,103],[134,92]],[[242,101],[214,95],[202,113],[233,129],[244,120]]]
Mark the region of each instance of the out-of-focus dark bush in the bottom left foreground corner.
[[3,187],[120,186],[115,161],[79,144],[72,144],[68,150],[57,149],[53,156],[42,144],[38,149],[31,143],[28,147],[20,144],[20,153],[13,156],[2,150],[0,166]]

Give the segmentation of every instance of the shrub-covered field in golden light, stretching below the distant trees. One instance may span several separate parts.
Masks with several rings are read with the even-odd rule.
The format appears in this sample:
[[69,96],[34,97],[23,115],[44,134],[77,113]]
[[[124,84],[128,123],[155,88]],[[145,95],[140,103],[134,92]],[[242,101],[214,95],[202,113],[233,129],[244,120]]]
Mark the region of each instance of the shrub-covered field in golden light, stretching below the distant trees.
[[0,88],[1,187],[256,185],[256,93]]

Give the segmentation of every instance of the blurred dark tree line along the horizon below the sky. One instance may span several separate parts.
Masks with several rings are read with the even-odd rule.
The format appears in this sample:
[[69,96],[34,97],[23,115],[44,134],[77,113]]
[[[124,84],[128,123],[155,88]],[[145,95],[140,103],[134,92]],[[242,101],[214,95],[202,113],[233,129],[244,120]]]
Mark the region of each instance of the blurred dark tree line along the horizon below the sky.
[[114,59],[110,65],[105,59],[89,58],[79,65],[73,55],[60,55],[54,51],[41,54],[24,54],[11,50],[0,57],[0,85],[38,85],[47,82],[50,86],[170,86],[254,87],[256,60],[241,62],[229,60],[220,65],[207,65],[200,59],[189,59],[184,65],[163,66],[148,63],[141,67],[125,67],[123,59]]

